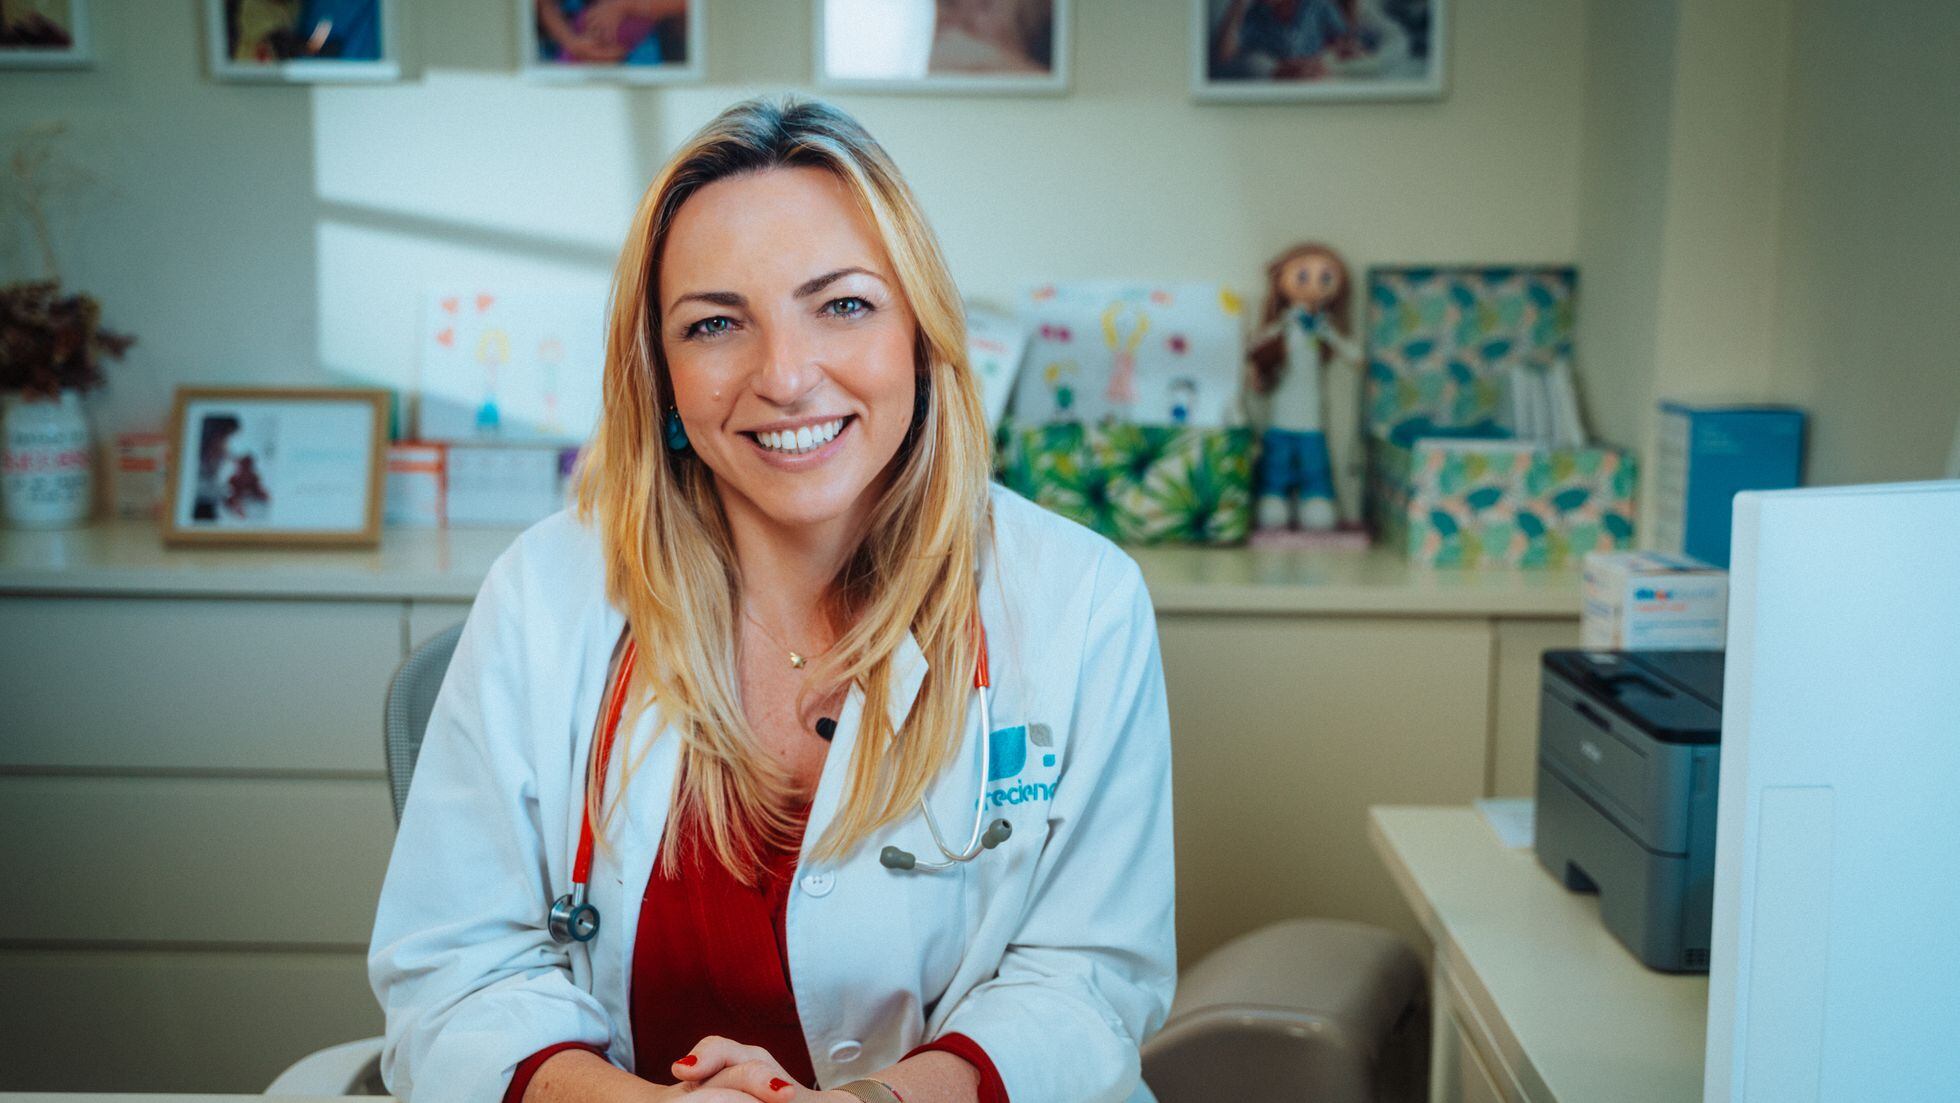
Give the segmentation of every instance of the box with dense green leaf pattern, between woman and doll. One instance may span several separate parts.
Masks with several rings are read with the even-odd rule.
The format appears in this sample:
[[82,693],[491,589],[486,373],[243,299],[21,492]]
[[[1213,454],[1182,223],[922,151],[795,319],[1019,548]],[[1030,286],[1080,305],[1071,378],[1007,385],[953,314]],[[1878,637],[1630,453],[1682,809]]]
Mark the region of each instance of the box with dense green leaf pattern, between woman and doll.
[[1056,513],[1133,545],[1235,545],[1252,521],[1252,431],[1007,425],[1000,476]]

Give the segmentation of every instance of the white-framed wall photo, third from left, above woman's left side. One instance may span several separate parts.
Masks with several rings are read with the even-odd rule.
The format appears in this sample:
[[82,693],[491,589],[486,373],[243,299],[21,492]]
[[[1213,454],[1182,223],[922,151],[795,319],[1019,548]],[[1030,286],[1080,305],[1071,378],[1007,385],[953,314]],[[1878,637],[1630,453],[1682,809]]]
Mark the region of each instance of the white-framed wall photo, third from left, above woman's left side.
[[539,80],[702,78],[702,0],[517,0],[517,27]]

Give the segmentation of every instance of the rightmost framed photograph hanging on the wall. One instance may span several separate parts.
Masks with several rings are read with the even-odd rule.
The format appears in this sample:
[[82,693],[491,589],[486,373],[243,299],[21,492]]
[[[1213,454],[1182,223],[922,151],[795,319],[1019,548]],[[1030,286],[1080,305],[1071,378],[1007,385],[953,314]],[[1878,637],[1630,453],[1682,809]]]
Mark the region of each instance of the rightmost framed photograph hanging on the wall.
[[1192,0],[1198,100],[1433,100],[1450,0]]

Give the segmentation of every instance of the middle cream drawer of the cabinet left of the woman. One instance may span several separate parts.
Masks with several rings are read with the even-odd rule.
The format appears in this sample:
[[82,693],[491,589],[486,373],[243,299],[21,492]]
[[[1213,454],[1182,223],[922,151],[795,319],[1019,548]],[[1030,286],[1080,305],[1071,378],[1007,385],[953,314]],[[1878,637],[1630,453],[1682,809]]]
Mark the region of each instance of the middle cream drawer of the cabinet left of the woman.
[[367,946],[380,780],[0,778],[0,940]]

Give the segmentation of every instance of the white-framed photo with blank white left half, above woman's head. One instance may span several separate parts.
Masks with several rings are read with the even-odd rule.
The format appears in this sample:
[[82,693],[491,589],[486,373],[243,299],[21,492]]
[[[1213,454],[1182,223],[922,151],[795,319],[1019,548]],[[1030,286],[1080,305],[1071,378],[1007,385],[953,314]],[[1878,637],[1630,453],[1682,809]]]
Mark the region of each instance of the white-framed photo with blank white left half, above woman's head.
[[817,86],[1068,90],[1068,0],[817,0]]

